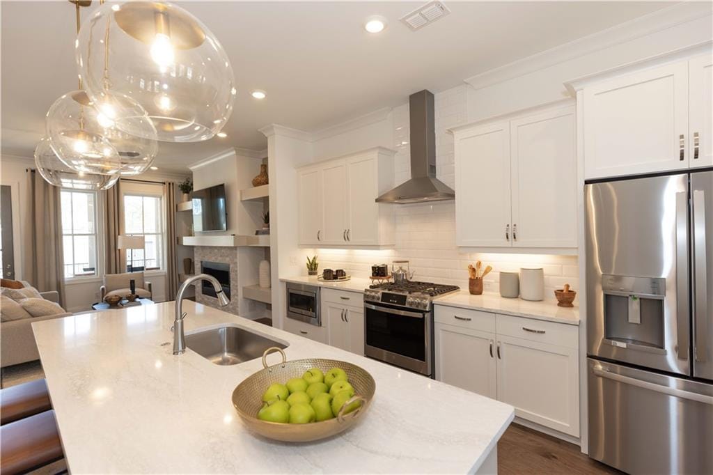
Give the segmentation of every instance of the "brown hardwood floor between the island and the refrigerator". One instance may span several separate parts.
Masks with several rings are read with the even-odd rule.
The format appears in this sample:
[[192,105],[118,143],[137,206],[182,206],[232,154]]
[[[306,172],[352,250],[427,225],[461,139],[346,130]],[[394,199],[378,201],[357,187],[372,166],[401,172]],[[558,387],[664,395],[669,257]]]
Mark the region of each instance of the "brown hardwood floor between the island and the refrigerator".
[[511,424],[498,442],[498,474],[621,474],[579,446]]

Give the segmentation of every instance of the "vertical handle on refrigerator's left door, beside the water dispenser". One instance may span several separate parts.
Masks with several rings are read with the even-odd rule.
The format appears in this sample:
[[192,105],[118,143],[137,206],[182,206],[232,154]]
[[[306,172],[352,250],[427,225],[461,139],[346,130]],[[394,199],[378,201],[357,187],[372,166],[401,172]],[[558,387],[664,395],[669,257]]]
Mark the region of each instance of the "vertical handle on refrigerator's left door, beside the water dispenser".
[[688,193],[676,193],[676,302],[677,355],[688,359]]

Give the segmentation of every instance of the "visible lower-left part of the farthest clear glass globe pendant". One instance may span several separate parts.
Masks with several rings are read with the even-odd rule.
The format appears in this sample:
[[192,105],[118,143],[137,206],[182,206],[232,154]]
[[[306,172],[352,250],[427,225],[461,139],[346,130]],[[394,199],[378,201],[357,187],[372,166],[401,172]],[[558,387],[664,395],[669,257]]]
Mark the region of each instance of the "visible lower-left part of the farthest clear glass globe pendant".
[[107,190],[119,179],[118,174],[93,175],[72,170],[57,158],[47,137],[43,137],[35,148],[35,166],[50,185],[73,190]]

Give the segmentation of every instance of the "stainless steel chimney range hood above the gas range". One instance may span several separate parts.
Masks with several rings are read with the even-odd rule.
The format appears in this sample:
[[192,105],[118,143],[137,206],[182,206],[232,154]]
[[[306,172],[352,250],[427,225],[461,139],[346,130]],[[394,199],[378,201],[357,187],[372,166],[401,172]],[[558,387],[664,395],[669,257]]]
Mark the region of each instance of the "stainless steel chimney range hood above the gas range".
[[376,198],[377,203],[426,203],[453,200],[456,192],[436,178],[436,125],[431,91],[409,96],[411,178]]

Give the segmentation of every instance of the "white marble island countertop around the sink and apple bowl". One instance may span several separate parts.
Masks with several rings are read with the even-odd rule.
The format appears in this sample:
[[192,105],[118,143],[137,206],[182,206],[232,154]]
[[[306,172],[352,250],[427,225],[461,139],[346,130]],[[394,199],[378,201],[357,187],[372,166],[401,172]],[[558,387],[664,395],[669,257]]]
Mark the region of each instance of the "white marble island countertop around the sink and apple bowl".
[[359,364],[376,380],[369,412],[309,444],[251,434],[230,396],[260,360],[173,356],[173,302],[34,322],[71,473],[461,473],[483,464],[514,416],[508,404],[282,330],[194,302],[184,310],[187,333],[227,323],[289,343],[288,359]]

